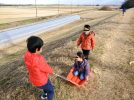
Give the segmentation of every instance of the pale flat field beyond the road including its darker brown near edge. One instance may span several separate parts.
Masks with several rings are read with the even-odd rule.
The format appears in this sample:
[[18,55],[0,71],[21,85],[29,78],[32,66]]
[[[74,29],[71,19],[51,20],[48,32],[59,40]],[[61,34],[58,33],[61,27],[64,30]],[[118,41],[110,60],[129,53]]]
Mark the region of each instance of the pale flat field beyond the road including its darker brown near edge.
[[30,24],[50,18],[55,18],[61,15],[79,13],[84,10],[97,9],[95,7],[38,7],[36,18],[35,8],[33,7],[1,7],[0,8],[0,30],[12,28],[19,25]]

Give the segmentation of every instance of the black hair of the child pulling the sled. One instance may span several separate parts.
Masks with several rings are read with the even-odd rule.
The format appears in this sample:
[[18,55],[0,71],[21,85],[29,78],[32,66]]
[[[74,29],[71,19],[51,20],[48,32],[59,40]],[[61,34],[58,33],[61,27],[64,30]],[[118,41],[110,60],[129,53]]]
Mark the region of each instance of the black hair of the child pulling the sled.
[[27,48],[31,53],[35,53],[36,49],[40,50],[43,46],[43,40],[37,36],[31,36],[27,39]]

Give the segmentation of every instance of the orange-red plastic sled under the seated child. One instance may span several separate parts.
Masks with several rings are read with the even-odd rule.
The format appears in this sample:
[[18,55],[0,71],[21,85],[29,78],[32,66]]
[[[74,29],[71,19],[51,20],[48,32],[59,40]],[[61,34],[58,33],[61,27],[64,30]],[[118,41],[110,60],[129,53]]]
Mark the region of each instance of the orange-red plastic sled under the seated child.
[[70,70],[69,74],[67,75],[67,79],[74,85],[81,87],[84,85],[86,80],[80,80],[79,77],[73,75],[73,69]]

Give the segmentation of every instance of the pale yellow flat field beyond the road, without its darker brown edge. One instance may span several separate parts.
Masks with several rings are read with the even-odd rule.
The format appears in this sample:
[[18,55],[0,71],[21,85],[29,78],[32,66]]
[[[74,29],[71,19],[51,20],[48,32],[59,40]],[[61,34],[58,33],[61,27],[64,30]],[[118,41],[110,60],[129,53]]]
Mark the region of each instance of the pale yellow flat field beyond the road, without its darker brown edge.
[[[86,9],[93,9],[93,7],[60,7],[58,12],[58,7],[38,7],[38,17],[54,16],[58,14],[66,14],[77,11],[82,11]],[[36,17],[35,8],[30,7],[1,7],[0,8],[0,24],[10,23],[14,21],[27,20]]]

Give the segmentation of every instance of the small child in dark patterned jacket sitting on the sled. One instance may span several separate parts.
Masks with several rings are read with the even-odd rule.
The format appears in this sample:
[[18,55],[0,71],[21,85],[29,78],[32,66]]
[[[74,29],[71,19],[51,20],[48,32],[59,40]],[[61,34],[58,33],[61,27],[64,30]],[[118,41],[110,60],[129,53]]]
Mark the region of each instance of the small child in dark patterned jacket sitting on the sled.
[[73,74],[74,76],[78,76],[80,80],[88,80],[89,75],[89,62],[84,58],[82,52],[77,52],[77,56],[75,57],[75,63],[73,65]]

